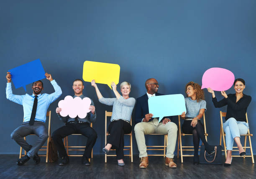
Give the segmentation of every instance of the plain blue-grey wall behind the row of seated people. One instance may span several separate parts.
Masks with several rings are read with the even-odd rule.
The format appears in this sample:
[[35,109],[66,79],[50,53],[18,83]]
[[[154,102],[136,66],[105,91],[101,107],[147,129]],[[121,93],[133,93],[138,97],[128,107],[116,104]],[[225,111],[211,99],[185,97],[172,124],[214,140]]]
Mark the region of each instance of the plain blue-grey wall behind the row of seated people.
[[[0,153],[18,153],[19,146],[10,133],[22,123],[22,106],[6,99],[5,75],[8,69],[40,58],[63,94],[49,107],[51,131],[64,125],[55,108],[59,100],[73,95],[72,81],[82,78],[86,60],[120,65],[120,82],[132,84],[131,97],[146,93],[144,82],[154,77],[159,92],[184,95],[189,81],[202,83],[211,67],[229,69],[246,80],[245,94],[251,95],[248,118],[251,133],[256,133],[256,1],[255,0],[54,0],[0,2],[0,60],[2,114]],[[54,92],[44,79],[44,92]],[[85,82],[84,94],[95,102],[98,133],[95,154],[103,154],[105,110],[112,107],[98,102],[95,90]],[[114,97],[107,85],[98,85],[104,97]],[[32,93],[31,84],[27,92]],[[23,88],[15,89],[25,94]],[[227,93],[234,93],[233,88]],[[219,92],[217,99],[222,99]],[[219,143],[219,111],[205,90],[208,141]],[[177,116],[174,122],[177,123]],[[148,145],[163,143],[163,137],[147,136]],[[138,148],[133,136],[133,152]],[[30,141],[33,143],[33,137]],[[70,144],[84,144],[85,137],[71,137]],[[184,140],[192,144],[192,138]],[[253,151],[256,140],[252,137]],[[177,150],[177,149],[176,149]],[[249,152],[249,151],[248,151]]]

